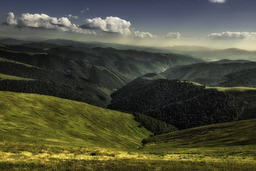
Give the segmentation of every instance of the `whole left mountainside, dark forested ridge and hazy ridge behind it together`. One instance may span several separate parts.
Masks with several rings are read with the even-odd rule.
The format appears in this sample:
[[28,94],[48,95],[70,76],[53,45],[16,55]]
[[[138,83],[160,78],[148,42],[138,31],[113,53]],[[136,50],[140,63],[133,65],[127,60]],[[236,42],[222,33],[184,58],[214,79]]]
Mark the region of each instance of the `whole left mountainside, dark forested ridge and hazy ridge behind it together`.
[[37,81],[4,81],[0,85],[2,91],[39,93],[107,107],[109,95],[138,76],[197,62],[202,60],[188,55],[88,48],[82,42],[62,39],[2,43],[0,73]]

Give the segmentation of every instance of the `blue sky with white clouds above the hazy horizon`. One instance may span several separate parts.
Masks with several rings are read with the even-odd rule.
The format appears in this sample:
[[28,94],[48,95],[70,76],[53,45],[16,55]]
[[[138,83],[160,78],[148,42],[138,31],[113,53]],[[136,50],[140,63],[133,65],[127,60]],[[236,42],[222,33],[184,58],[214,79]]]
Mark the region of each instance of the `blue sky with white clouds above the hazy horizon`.
[[0,36],[256,50],[255,0],[0,0]]

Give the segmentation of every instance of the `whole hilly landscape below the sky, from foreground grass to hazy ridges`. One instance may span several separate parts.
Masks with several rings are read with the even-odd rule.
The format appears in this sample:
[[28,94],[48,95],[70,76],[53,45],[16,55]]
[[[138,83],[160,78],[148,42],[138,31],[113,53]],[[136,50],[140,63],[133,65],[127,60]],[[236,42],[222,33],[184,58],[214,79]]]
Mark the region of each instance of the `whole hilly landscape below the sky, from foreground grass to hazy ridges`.
[[252,56],[209,62],[196,52],[217,50],[0,42],[2,170],[256,169]]

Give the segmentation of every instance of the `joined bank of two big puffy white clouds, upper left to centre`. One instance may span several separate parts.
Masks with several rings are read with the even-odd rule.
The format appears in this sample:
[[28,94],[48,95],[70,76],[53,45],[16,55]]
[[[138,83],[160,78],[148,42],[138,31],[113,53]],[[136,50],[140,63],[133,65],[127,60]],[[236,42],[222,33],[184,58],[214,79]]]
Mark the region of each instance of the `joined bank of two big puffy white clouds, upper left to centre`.
[[[67,17],[56,18],[46,14],[26,13],[22,14],[21,17],[15,17],[13,13],[8,13],[6,21],[3,24],[17,28],[44,28],[92,35],[96,35],[96,32],[92,30],[100,30],[123,36],[158,38],[158,36],[150,32],[136,31],[134,28],[130,29],[131,23],[118,17],[86,19],[85,23],[80,26],[71,23],[69,20],[71,18],[77,19],[78,16],[69,14]],[[169,33],[168,35],[168,38],[179,38],[180,36],[179,33]]]

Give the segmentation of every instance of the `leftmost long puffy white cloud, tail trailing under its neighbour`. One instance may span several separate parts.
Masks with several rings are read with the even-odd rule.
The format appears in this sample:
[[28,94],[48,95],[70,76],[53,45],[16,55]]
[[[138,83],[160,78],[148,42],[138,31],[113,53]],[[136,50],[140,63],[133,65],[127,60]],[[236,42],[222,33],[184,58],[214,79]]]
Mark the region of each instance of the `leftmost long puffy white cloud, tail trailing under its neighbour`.
[[[70,17],[70,15],[68,15]],[[72,17],[72,16],[71,16]],[[95,34],[94,31],[84,30],[72,24],[66,17],[49,17],[46,14],[22,14],[17,18],[13,13],[8,13],[4,25],[15,26],[18,28],[46,28],[60,31],[79,32],[83,34]]]

